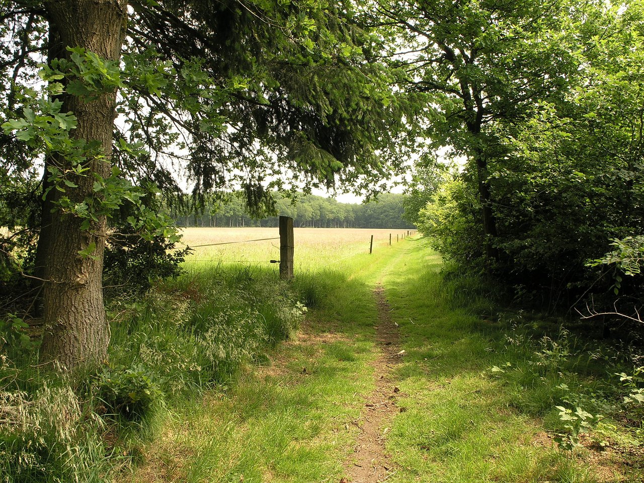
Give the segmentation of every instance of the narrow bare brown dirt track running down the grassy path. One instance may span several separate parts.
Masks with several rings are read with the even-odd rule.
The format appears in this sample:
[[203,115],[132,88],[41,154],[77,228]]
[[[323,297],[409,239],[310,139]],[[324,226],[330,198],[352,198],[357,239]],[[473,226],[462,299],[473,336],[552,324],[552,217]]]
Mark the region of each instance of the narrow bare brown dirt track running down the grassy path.
[[384,440],[390,430],[390,421],[399,412],[396,398],[400,390],[391,374],[403,354],[399,346],[398,328],[390,316],[391,308],[381,285],[374,290],[374,298],[378,307],[375,331],[379,350],[372,364],[375,390],[366,396],[365,406],[357,421],[361,433],[354,453],[346,462],[346,475],[340,483],[380,483],[395,473],[395,465],[386,453]]

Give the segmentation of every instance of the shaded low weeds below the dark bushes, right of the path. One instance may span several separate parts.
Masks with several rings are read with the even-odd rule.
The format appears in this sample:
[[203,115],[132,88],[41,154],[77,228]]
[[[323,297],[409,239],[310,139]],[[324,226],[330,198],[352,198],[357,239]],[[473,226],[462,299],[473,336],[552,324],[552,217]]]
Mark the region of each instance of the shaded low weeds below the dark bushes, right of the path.
[[601,340],[589,321],[499,312],[507,302],[498,296],[502,287],[471,275],[443,280],[450,303],[481,317],[497,338],[487,349],[487,375],[504,386],[507,405],[542,419],[558,448],[644,443],[644,356],[636,337]]

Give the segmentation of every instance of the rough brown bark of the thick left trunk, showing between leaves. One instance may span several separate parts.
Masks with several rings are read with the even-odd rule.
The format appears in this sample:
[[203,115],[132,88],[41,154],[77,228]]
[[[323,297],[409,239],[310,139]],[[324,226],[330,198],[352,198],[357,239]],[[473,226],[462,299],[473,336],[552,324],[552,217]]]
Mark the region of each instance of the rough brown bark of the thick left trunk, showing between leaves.
[[[102,59],[117,60],[126,31],[127,7],[124,0],[52,0],[45,3],[50,28],[57,32],[52,52],[68,55],[66,47],[82,47]],[[94,175],[107,177],[110,171],[111,138],[115,119],[116,92],[97,93],[92,99],[63,95],[62,111],[72,111],[77,128],[70,137],[98,141],[101,155],[88,158],[89,171],[70,178],[77,188],[66,187],[72,202],[96,196]],[[51,156],[50,162],[70,169],[71,162]],[[50,191],[55,203],[62,193]],[[47,203],[45,203],[47,205]],[[41,355],[64,368],[93,365],[106,357],[109,325],[102,294],[103,252],[107,220],[100,216],[89,230],[81,229],[82,220],[71,214],[53,211],[51,223],[43,225],[41,238],[46,245],[43,316],[45,331]],[[91,256],[79,251],[95,244]]]

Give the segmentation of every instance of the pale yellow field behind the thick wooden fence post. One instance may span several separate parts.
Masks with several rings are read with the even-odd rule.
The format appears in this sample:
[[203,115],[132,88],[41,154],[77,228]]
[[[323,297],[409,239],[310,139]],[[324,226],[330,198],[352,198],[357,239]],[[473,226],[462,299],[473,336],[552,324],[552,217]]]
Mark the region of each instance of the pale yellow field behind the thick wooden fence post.
[[[369,252],[374,235],[374,251],[386,249],[389,235],[392,244],[396,236],[402,239],[406,230],[295,228],[294,269],[315,270],[341,263],[345,258]],[[186,258],[192,263],[265,264],[279,260],[279,231],[277,228],[186,228],[183,241],[194,247]],[[270,238],[272,240],[262,240]],[[245,240],[261,240],[247,243]],[[226,243],[214,245],[214,243]],[[211,246],[200,246],[211,245]],[[277,270],[277,265],[275,265]]]

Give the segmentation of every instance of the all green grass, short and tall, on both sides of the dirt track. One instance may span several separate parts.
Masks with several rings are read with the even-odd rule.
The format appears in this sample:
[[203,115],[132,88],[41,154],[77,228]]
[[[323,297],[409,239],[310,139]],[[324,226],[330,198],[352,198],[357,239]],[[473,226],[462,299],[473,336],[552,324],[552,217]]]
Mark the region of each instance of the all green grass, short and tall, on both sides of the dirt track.
[[[187,264],[184,276],[145,298],[111,302],[102,379],[88,375],[74,385],[28,366],[0,367],[12,381],[0,391],[5,402],[41,401],[24,404],[23,430],[0,428],[0,481],[339,480],[375,386],[378,283],[406,351],[392,373],[403,411],[388,422],[395,462],[388,481],[598,480],[584,451],[543,444],[544,431],[565,430],[556,404],[598,412],[615,397],[602,379],[602,371],[618,370],[607,366],[611,353],[589,358],[601,351],[527,314],[493,316],[493,287],[441,268],[419,238],[301,272],[290,283],[272,269]],[[296,336],[298,299],[308,314]],[[548,331],[551,339],[540,338]],[[111,388],[123,384],[138,410],[99,411],[97,397],[106,396],[97,381],[106,379]],[[602,437],[623,438],[627,447],[636,436],[606,422]],[[37,437],[43,446],[29,446]],[[7,457],[14,453],[33,464]],[[625,478],[641,477],[639,464]]]

